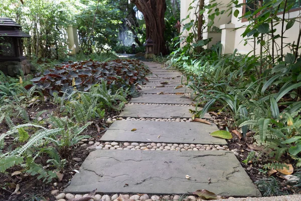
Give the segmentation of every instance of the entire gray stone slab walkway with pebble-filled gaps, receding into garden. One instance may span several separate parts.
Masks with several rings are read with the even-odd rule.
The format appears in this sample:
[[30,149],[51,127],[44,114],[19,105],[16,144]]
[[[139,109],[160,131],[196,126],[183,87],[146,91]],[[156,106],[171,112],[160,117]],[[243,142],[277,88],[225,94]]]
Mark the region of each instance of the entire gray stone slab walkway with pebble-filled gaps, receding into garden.
[[227,142],[209,135],[218,130],[216,125],[188,120],[189,109],[194,109],[190,90],[175,89],[186,78],[161,64],[144,63],[153,72],[149,82],[125,106],[65,191],[97,188],[107,194],[158,195],[207,189],[222,196],[261,196]]

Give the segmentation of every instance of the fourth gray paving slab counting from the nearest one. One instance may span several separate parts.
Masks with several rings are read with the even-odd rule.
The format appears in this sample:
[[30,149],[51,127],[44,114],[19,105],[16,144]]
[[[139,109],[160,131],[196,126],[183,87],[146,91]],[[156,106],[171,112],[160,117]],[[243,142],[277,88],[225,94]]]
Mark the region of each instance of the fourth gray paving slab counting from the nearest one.
[[[160,87],[161,88],[161,87]],[[131,98],[129,103],[152,103],[152,104],[196,104],[185,95],[172,94],[140,94],[139,97]]]

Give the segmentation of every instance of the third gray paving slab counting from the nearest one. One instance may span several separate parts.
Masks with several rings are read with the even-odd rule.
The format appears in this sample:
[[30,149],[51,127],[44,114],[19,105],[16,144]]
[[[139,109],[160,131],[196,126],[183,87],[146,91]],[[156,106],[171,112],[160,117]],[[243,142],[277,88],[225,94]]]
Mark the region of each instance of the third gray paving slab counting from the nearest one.
[[[189,109],[194,110],[195,108],[191,106],[127,105],[119,116],[135,118],[191,118]],[[211,119],[211,116],[206,113],[204,118]]]

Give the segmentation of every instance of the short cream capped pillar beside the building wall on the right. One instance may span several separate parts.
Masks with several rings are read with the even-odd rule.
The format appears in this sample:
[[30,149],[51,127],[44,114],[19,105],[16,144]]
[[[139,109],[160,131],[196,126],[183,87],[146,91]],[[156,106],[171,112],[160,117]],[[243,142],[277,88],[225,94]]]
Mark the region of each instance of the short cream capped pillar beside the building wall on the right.
[[235,47],[235,25],[224,24],[220,26],[222,30],[221,44],[223,46],[222,54],[232,54]]

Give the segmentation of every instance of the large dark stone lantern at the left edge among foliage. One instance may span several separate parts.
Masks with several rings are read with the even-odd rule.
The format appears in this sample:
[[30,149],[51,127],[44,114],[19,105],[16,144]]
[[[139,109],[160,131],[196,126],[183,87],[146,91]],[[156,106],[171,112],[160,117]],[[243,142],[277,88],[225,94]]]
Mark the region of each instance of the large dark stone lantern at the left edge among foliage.
[[0,70],[10,76],[28,74],[34,66],[23,56],[22,38],[30,37],[10,18],[0,18]]

